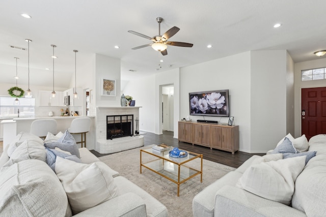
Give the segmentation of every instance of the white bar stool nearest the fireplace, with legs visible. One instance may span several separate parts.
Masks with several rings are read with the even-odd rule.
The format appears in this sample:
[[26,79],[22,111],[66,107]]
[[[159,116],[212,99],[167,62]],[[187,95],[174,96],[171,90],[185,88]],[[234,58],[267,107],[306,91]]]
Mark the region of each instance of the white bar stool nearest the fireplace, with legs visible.
[[[77,143],[85,143],[86,147],[86,133],[90,131],[91,128],[91,118],[89,117],[77,117],[71,121],[70,128],[68,132],[71,134],[81,134],[82,140]],[[83,135],[85,135],[85,139],[83,140]]]

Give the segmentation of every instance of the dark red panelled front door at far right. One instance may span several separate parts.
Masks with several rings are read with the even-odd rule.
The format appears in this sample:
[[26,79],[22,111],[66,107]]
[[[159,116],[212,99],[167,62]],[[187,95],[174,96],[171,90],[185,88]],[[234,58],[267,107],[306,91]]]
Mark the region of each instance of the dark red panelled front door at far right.
[[326,134],[326,87],[303,88],[301,102],[302,135]]

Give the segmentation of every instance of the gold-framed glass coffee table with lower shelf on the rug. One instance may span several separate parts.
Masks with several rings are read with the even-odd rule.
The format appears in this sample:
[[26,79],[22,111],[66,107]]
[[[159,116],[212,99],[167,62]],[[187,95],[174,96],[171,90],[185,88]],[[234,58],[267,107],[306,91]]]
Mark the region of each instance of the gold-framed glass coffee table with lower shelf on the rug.
[[[169,156],[169,151],[155,151],[151,147],[140,150],[140,172],[142,173],[142,166],[169,179],[178,185],[178,193],[180,184],[188,179],[200,174],[200,182],[203,182],[203,154],[187,151],[188,155],[185,158],[172,158]],[[142,154],[150,154],[153,158],[150,161],[143,162]],[[186,163],[200,158],[200,170],[187,166]]]

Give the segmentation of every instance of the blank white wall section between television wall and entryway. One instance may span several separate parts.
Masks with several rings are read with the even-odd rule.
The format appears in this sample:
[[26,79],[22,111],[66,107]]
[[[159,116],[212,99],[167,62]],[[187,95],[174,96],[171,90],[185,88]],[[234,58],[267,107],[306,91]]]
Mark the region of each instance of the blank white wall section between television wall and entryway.
[[251,51],[251,152],[274,149],[286,135],[286,57],[286,50]]

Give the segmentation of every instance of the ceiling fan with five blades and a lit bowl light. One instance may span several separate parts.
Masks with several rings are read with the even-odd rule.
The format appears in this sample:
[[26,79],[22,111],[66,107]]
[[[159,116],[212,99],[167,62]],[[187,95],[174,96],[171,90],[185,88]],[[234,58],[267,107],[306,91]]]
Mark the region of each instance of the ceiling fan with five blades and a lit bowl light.
[[172,28],[167,30],[167,32],[165,34],[163,34],[161,36],[161,22],[162,22],[162,20],[163,20],[163,18],[161,18],[161,17],[156,18],[156,21],[158,22],[158,36],[149,37],[149,36],[145,36],[143,34],[134,32],[132,30],[129,30],[128,33],[131,33],[131,34],[134,34],[136,36],[140,36],[140,37],[143,37],[145,39],[149,39],[149,40],[152,41],[151,44],[146,44],[146,45],[134,47],[134,48],[131,48],[131,49],[136,50],[136,49],[139,49],[139,48],[152,46],[152,48],[154,50],[159,51],[162,55],[167,55],[168,54],[168,51],[167,51],[168,46],[167,45],[178,46],[178,47],[193,47],[193,44],[190,44],[190,43],[169,42],[168,41],[168,39],[170,39],[172,36],[174,36],[180,30],[180,28],[178,28],[177,26],[173,26]]

